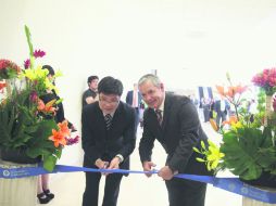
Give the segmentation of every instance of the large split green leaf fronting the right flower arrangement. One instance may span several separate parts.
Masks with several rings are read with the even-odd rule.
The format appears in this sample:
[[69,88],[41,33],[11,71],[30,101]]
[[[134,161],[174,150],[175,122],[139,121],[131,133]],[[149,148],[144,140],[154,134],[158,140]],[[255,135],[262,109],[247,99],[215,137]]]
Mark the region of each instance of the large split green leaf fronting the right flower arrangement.
[[262,166],[258,164],[260,145],[263,133],[256,128],[240,128],[224,133],[221,151],[225,154],[224,165],[236,176],[246,180],[256,179],[262,173]]

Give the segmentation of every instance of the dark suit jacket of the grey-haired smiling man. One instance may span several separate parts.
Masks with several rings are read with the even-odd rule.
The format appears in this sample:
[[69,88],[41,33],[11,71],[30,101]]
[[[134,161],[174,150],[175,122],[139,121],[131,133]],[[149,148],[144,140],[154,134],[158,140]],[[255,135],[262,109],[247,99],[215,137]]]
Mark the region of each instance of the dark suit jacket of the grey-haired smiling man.
[[187,96],[167,94],[164,103],[162,126],[159,125],[152,108],[143,114],[143,133],[139,144],[141,162],[151,160],[154,140],[156,139],[167,153],[166,165],[172,170],[195,175],[211,175],[202,157],[192,147],[200,149],[201,140],[206,143],[206,134],[201,128],[197,108]]

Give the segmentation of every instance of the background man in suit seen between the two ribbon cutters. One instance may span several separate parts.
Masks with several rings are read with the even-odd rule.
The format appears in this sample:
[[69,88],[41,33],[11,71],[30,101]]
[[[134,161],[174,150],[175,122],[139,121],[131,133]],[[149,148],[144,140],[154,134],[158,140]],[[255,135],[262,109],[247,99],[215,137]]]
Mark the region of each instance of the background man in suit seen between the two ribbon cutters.
[[134,90],[128,91],[126,94],[126,103],[135,108],[136,112],[136,127],[140,120],[140,104],[142,96],[138,90],[138,85],[134,83]]

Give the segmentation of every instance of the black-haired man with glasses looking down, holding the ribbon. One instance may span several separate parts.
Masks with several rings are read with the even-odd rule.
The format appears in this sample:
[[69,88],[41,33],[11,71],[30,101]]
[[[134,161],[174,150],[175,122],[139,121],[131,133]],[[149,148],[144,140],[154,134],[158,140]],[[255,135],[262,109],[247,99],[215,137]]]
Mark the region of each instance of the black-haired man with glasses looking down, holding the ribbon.
[[[98,86],[99,101],[84,107],[81,115],[84,166],[100,169],[129,169],[129,155],[135,149],[135,111],[120,101],[123,85],[104,77]],[[83,206],[98,206],[102,173],[86,172]],[[115,206],[122,173],[105,173],[103,206]]]

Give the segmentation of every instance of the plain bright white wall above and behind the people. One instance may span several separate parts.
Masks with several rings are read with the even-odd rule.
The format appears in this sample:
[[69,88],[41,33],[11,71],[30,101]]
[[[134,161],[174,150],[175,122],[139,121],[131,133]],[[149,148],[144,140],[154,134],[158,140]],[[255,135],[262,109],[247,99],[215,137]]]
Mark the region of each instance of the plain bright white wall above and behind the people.
[[0,0],[0,57],[23,64],[28,25],[43,64],[64,73],[60,94],[78,128],[89,75],[128,90],[158,69],[168,88],[190,88],[225,82],[227,70],[247,82],[276,61],[275,0]]

